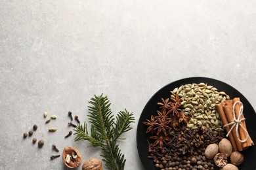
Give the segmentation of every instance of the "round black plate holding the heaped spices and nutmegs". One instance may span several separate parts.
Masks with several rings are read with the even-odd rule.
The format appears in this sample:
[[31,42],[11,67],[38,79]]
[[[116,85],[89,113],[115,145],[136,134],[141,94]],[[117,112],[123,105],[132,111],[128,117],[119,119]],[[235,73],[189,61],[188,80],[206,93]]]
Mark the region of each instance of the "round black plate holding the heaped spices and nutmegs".
[[[138,127],[137,127],[137,148],[140,156],[140,160],[142,165],[146,170],[156,169],[154,167],[154,163],[152,159],[148,158],[148,143],[147,140],[150,141],[150,134],[146,134],[146,126],[143,124],[146,119],[150,119],[150,116],[153,114],[156,116],[158,110],[157,103],[160,102],[160,99],[166,99],[170,97],[170,91],[174,88],[177,88],[184,84],[192,84],[192,83],[200,83],[204,82],[208,85],[215,86],[219,90],[219,92],[226,92],[230,99],[234,97],[240,97],[240,101],[244,104],[244,116],[246,118],[246,126],[249,132],[249,135],[253,142],[256,142],[256,113],[249,101],[242,95],[242,93],[238,92],[232,86],[221,82],[219,80],[215,80],[212,78],[205,77],[192,77],[192,78],[184,78],[181,80],[177,80],[172,82],[171,84],[167,84],[163,88],[161,88],[158,92],[156,92],[151,99],[148,101],[144,109],[142,110],[142,114],[140,115]],[[247,150],[242,152],[244,154],[244,163],[239,166],[239,169],[256,169],[256,147],[251,146]]]

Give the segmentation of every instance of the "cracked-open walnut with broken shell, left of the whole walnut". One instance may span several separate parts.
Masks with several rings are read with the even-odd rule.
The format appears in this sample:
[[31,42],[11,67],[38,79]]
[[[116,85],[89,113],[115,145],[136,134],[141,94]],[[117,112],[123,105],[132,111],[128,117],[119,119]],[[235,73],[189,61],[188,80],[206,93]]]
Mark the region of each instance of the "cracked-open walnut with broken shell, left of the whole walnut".
[[[66,158],[68,155],[72,156],[72,152],[74,152],[77,157],[72,159],[70,162],[67,162]],[[65,147],[62,152],[62,161],[69,168],[79,167],[81,164],[81,154],[76,148],[72,146]]]

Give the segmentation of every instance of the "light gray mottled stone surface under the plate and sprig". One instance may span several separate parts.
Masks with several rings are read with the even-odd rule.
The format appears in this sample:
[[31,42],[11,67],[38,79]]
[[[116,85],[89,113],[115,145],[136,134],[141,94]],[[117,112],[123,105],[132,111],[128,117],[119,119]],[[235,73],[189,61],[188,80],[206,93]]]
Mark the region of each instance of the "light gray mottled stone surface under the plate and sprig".
[[[0,169],[66,169],[51,144],[100,158],[89,143],[64,139],[68,110],[87,120],[104,93],[136,123],[119,143],[125,169],[143,169],[137,122],[162,86],[190,76],[222,80],[256,105],[256,1],[1,0]],[[58,118],[45,124],[43,112]],[[25,131],[45,139],[39,149]],[[48,127],[57,127],[49,133]],[[81,169],[81,166],[78,168]]]

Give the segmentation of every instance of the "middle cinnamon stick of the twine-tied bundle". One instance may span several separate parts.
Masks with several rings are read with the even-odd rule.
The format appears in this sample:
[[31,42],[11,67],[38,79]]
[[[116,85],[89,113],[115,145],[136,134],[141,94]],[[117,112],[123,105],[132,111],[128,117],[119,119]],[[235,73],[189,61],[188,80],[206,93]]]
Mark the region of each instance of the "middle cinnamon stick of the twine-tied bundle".
[[[234,117],[233,117],[233,112],[232,112],[232,100],[228,100],[224,102],[225,105],[223,107],[224,110],[224,114],[226,116],[226,119],[228,120],[228,123],[234,122]],[[240,143],[240,141],[238,141],[238,138],[236,137],[236,128],[232,129],[232,135],[234,137],[234,141],[236,143],[236,146],[238,147],[239,151],[243,150],[243,146],[242,143]]]

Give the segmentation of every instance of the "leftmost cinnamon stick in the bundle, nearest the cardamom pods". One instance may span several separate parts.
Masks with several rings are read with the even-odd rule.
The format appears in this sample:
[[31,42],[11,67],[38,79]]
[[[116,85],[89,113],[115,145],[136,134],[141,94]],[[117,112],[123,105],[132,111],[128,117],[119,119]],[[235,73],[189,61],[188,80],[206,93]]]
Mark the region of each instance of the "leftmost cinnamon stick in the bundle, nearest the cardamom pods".
[[[219,112],[219,115],[221,116],[221,120],[223,122],[223,125],[228,124],[228,120],[226,120],[226,116],[223,110],[223,106],[221,104],[217,104],[215,105],[217,111]],[[226,126],[224,127],[226,132],[228,133],[228,131],[230,131],[230,126]],[[234,136],[232,133],[230,133],[230,135],[228,135],[228,140],[230,141],[232,148],[234,151],[238,150],[238,147],[236,146],[236,142],[234,141]]]

